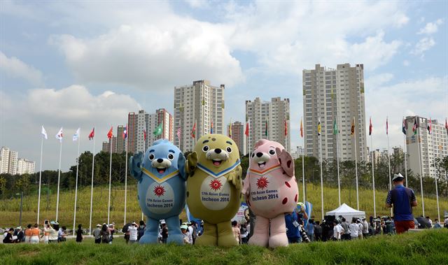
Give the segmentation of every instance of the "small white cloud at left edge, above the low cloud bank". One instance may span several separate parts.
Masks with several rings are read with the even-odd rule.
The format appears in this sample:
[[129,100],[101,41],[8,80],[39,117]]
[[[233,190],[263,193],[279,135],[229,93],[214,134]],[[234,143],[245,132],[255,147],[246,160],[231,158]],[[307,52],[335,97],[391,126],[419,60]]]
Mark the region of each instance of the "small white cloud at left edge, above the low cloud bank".
[[16,57],[7,57],[0,51],[0,71],[11,78],[23,78],[31,85],[43,85],[43,77],[41,71],[33,66],[29,66]]

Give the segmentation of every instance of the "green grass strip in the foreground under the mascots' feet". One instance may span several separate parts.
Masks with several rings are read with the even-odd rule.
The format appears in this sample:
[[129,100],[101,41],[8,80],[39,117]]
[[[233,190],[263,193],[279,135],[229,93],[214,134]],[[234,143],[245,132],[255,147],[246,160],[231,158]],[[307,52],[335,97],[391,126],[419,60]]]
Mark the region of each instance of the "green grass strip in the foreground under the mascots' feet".
[[67,241],[51,245],[0,245],[2,264],[446,264],[448,229],[360,241],[315,242],[269,250],[195,245],[112,245]]

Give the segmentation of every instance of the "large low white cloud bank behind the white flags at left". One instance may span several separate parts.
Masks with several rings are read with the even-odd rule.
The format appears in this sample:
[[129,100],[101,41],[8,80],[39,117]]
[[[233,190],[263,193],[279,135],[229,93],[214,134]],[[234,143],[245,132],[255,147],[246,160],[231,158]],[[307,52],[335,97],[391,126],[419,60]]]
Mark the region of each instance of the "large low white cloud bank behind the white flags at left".
[[[96,152],[101,150],[102,141],[111,125],[126,124],[127,113],[138,110],[138,103],[131,96],[104,92],[94,95],[86,87],[71,85],[64,89],[30,89],[25,94],[1,94],[0,145],[9,146],[38,162],[40,155],[40,127],[48,133],[45,141],[43,167],[57,169],[58,142],[54,138],[60,127],[64,127],[62,164],[64,170],[73,164],[77,145],[71,135],[81,128],[81,150],[92,150],[87,136],[93,126],[96,128]],[[3,105],[4,104],[4,105]],[[20,118],[18,118],[20,117]]]

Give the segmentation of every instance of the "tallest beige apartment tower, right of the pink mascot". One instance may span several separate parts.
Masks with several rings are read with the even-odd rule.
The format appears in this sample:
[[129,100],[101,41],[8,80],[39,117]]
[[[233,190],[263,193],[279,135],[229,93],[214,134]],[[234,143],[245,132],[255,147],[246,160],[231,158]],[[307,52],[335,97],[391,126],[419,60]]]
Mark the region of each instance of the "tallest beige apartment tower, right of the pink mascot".
[[[319,157],[318,120],[321,120],[322,158],[337,156],[337,139],[333,122],[339,128],[339,159],[367,159],[364,103],[364,66],[338,64],[336,69],[316,64],[315,69],[303,70],[303,113],[305,155]],[[355,119],[356,137],[351,136]],[[355,151],[356,138],[356,153]]]

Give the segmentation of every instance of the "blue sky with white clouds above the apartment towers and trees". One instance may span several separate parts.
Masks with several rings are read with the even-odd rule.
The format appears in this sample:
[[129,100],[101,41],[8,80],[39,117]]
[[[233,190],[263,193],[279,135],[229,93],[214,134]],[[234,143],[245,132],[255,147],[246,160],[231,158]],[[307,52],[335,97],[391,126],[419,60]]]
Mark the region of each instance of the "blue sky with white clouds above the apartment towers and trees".
[[448,115],[447,20],[447,1],[1,1],[0,145],[38,162],[43,124],[57,169],[63,126],[66,170],[78,127],[81,150],[97,127],[99,150],[128,112],[172,111],[174,86],[200,79],[226,85],[226,121],[247,99],[290,98],[300,145],[302,69],[346,62],[365,67],[374,148],[386,116],[402,145],[402,116]]

